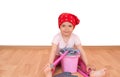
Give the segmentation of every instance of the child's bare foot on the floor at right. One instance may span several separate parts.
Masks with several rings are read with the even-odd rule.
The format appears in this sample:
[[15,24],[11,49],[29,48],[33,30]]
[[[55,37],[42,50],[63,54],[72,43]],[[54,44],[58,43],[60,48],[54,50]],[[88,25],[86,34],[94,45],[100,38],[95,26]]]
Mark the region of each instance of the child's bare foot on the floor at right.
[[97,71],[91,71],[90,77],[103,77],[106,74],[106,68]]

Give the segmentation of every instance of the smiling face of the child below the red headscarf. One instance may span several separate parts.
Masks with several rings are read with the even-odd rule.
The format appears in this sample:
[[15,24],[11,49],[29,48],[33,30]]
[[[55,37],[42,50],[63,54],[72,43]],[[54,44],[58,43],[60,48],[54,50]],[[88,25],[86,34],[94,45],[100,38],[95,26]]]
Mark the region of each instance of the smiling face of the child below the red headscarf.
[[64,22],[60,25],[60,31],[63,36],[70,36],[73,32],[74,26],[70,22]]

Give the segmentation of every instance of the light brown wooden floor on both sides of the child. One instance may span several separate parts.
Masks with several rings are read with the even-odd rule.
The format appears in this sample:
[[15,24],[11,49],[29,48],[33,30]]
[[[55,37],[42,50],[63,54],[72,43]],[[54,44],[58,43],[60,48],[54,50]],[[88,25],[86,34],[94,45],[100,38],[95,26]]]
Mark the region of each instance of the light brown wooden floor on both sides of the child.
[[[108,77],[120,77],[120,46],[84,46],[96,69],[109,67]],[[50,46],[0,46],[0,77],[45,77]],[[57,69],[56,73],[60,73]]]

